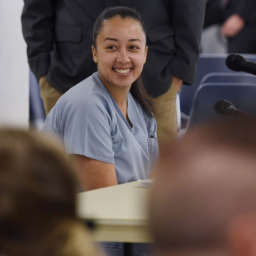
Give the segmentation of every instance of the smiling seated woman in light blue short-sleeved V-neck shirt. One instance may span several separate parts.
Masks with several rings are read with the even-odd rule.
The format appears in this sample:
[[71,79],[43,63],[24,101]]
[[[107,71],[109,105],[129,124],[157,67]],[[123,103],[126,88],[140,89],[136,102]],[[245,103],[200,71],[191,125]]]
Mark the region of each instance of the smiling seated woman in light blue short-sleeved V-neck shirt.
[[84,190],[150,177],[158,145],[141,79],[147,51],[136,11],[105,9],[93,30],[98,72],[62,95],[46,118],[43,131],[63,140]]

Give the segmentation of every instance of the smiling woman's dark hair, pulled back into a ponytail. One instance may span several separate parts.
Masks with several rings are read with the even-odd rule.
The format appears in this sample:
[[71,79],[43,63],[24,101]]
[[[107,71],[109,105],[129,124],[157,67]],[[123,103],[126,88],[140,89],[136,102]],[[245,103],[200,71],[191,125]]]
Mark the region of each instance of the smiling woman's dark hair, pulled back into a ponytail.
[[[120,16],[121,18],[131,18],[135,21],[138,21],[141,25],[141,29],[146,36],[146,28],[144,22],[141,18],[141,15],[134,9],[125,6],[116,6],[116,7],[108,7],[103,10],[97,20],[94,23],[93,27],[93,45],[97,47],[97,37],[103,27],[103,22],[114,18],[116,16]],[[142,76],[138,77],[138,79],[132,84],[131,94],[135,99],[138,100],[141,107],[147,111],[150,115],[153,115],[153,110],[155,112],[155,107],[153,102],[151,101],[149,95],[147,94],[145,87],[143,86]]]

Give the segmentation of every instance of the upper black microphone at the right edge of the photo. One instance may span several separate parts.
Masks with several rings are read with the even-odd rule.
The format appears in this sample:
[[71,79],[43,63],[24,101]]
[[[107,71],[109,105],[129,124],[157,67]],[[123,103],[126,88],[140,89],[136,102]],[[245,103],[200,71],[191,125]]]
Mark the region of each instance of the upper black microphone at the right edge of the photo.
[[256,63],[246,60],[243,56],[237,53],[231,53],[226,58],[226,66],[234,71],[243,71],[256,75]]

